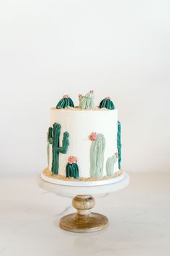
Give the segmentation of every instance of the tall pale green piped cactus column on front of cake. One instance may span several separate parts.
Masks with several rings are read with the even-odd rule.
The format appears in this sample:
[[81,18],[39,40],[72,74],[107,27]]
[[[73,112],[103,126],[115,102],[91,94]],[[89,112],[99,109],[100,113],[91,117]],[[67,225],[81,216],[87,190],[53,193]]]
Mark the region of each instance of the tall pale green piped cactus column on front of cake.
[[91,143],[91,177],[102,178],[104,162],[105,139],[99,133],[97,139]]

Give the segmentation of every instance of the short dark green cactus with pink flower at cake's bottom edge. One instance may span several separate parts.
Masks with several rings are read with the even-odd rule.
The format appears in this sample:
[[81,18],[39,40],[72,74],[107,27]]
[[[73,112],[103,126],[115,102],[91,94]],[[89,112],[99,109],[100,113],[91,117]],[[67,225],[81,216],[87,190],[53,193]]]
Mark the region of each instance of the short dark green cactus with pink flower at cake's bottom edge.
[[77,165],[76,156],[70,156],[66,165],[66,177],[79,178],[79,166]]

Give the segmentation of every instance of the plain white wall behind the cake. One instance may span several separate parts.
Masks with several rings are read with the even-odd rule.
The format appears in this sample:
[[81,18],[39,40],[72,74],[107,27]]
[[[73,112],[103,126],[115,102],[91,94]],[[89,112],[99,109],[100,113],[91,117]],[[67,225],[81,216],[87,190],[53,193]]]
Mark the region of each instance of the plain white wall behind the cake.
[[125,171],[170,171],[167,0],[1,0],[1,171],[46,166],[48,109],[110,95]]

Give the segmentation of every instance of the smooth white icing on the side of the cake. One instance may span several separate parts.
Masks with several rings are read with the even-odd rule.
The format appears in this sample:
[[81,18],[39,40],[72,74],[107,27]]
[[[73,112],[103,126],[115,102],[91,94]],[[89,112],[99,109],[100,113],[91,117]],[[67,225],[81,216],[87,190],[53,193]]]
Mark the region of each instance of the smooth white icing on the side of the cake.
[[[104,150],[104,173],[106,175],[106,162],[109,157],[117,152],[117,110],[79,110],[50,109],[50,126],[57,122],[61,124],[60,145],[62,145],[63,132],[69,133],[69,146],[66,154],[59,153],[58,174],[66,175],[68,157],[76,156],[79,166],[79,176],[90,175],[90,148],[91,132],[102,133],[106,140]],[[52,147],[50,146],[50,168],[52,164]],[[118,171],[118,161],[115,163]],[[114,172],[115,172],[114,171]]]

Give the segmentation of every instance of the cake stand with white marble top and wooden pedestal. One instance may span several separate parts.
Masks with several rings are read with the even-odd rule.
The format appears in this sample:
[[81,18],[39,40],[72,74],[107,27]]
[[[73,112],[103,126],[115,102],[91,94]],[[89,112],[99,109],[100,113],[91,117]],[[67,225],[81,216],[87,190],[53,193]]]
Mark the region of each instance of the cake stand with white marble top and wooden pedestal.
[[125,174],[124,178],[117,183],[91,187],[52,184],[38,176],[37,184],[40,188],[57,195],[64,197],[74,196],[72,205],[77,212],[63,216],[60,220],[60,226],[61,229],[66,231],[85,233],[104,229],[109,223],[106,216],[100,213],[91,213],[91,209],[95,205],[94,197],[91,195],[102,195],[124,189],[129,184],[129,176]]

